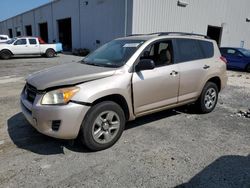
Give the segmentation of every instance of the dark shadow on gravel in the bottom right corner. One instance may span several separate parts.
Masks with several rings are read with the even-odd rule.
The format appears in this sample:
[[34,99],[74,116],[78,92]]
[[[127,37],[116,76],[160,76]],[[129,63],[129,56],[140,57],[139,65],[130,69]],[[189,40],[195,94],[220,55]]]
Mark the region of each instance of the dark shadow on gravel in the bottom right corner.
[[250,188],[250,155],[223,156],[175,188]]

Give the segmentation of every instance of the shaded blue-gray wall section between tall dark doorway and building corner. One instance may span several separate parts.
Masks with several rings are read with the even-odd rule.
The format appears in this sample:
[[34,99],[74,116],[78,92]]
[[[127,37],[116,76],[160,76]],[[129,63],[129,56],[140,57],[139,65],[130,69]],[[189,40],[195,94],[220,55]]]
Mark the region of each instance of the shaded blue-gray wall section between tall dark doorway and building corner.
[[125,0],[92,0],[88,4],[82,2],[80,19],[81,44],[91,50],[95,49],[114,38],[124,36]]

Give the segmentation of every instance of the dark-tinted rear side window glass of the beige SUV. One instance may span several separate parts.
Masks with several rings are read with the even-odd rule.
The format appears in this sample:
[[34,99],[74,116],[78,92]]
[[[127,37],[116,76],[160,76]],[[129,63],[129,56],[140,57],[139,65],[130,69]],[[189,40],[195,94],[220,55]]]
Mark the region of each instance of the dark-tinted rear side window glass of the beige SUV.
[[214,55],[213,43],[195,39],[177,39],[178,62],[211,58]]

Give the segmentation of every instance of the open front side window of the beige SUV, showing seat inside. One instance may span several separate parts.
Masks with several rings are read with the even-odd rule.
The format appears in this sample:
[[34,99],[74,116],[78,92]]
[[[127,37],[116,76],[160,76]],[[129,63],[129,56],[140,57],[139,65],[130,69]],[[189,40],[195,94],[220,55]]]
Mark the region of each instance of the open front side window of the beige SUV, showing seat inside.
[[172,41],[160,41],[148,46],[140,59],[151,59],[156,67],[173,64]]

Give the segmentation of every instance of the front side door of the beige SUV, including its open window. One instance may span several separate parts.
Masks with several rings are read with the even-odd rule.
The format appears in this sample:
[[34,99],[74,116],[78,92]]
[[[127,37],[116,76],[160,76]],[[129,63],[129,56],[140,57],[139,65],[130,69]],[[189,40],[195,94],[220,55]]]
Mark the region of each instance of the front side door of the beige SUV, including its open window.
[[156,68],[133,73],[136,115],[177,103],[179,70],[172,49],[172,40],[164,40],[150,45],[141,55],[140,59],[152,59]]

